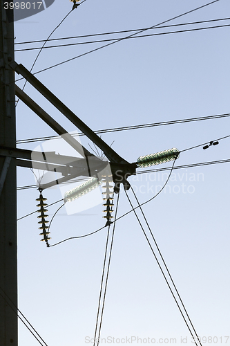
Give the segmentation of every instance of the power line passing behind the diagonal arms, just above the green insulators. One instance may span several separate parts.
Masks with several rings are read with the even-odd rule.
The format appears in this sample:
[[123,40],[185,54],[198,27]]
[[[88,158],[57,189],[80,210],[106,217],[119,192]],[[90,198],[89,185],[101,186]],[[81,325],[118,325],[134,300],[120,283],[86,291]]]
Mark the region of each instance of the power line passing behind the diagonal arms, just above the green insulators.
[[[131,129],[145,129],[147,127],[156,127],[156,126],[164,126],[164,125],[174,125],[174,124],[180,124],[183,122],[194,122],[194,121],[200,121],[200,120],[211,120],[211,119],[218,119],[218,118],[228,118],[230,116],[230,113],[223,113],[223,114],[217,114],[214,116],[203,116],[203,117],[197,117],[197,118],[186,118],[186,119],[179,119],[179,120],[171,120],[171,121],[163,121],[163,122],[152,122],[149,124],[142,124],[142,125],[133,125],[133,126],[126,126],[126,127],[113,127],[111,129],[101,129],[94,131],[95,134],[107,134],[108,132],[117,132],[117,131],[127,131]],[[79,132],[78,134],[72,134],[72,136],[85,136],[83,132]],[[46,136],[46,137],[38,137],[38,138],[27,138],[27,139],[21,139],[17,140],[17,144],[24,144],[24,143],[33,143],[33,142],[40,142],[42,140],[49,140],[49,139],[59,139],[61,136]]]

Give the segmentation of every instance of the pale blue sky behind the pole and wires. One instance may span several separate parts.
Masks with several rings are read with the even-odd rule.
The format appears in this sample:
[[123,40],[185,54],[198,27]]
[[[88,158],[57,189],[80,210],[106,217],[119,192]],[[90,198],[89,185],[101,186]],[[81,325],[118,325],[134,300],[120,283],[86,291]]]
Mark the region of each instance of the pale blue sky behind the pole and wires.
[[[205,3],[208,1],[86,0],[70,13],[52,38],[147,28]],[[15,42],[46,39],[71,8],[67,0],[55,0],[47,10],[17,21]],[[168,24],[227,17],[230,3],[220,0]],[[230,20],[224,24],[230,24]],[[37,78],[93,130],[229,113],[229,30],[215,28],[124,40],[39,73]],[[80,39],[59,44],[70,42]],[[44,49],[33,72],[101,45]],[[37,52],[17,52],[15,60],[30,69]],[[18,85],[22,87],[23,81]],[[68,131],[77,130],[32,86],[27,84],[25,92]],[[142,155],[172,147],[183,150],[227,136],[229,125],[229,118],[221,118],[111,132],[102,138],[108,145],[114,141],[113,149],[128,162],[135,162]],[[53,135],[54,131],[20,101],[17,139]],[[81,140],[90,149],[90,141],[86,137]],[[198,147],[184,152],[175,165],[227,159],[229,140],[220,140],[219,145],[207,150]],[[40,144],[18,147],[33,150]],[[169,166],[171,163],[153,168]],[[169,171],[140,174],[129,181],[137,198],[144,202],[153,197],[157,186],[164,185],[168,175]],[[17,181],[18,186],[35,184],[32,172],[21,167]],[[230,336],[229,190],[229,163],[174,170],[166,189],[143,207],[198,335],[216,336],[215,345],[230,345],[230,338],[227,343],[224,338]],[[132,193],[128,194],[135,203]],[[36,210],[38,197],[36,189],[19,190],[18,217]],[[44,197],[48,203],[62,198],[58,188],[45,190]],[[87,198],[92,200],[93,194]],[[49,208],[49,219],[60,205]],[[81,212],[76,208],[75,214],[67,215],[62,208],[50,228],[50,244],[101,228],[105,224],[102,210],[99,204]],[[122,189],[118,216],[128,210]],[[85,338],[94,336],[107,228],[52,248],[40,242],[39,233],[37,214],[18,222],[19,309],[48,346],[93,345]],[[192,345],[189,330],[133,213],[115,226],[101,332],[102,338],[109,336],[149,337],[156,343],[160,338],[176,338],[177,344],[181,344],[181,337],[187,337],[187,345]],[[19,346],[34,345],[39,343],[19,321]],[[133,341],[132,345],[137,343]]]

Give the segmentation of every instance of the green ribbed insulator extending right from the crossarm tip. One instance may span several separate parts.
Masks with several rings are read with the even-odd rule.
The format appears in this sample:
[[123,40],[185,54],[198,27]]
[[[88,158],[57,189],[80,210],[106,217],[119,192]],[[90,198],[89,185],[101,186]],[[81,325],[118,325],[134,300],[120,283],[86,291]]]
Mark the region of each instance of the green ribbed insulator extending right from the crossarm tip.
[[141,168],[149,167],[152,165],[159,165],[160,163],[175,160],[175,158],[178,158],[178,156],[179,150],[177,148],[172,148],[164,150],[163,152],[140,156],[139,158],[137,158],[137,165]]

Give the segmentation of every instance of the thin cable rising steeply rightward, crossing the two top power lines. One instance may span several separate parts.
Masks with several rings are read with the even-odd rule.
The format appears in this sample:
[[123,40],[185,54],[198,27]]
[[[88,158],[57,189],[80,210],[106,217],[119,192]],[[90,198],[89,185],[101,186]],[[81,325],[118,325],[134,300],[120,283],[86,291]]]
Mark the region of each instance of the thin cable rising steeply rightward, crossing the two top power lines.
[[[99,49],[102,49],[102,48],[111,46],[112,44],[115,44],[115,43],[117,43],[117,42],[121,42],[122,40],[127,39],[127,38],[129,38],[129,37],[133,37],[134,35],[138,35],[138,34],[140,34],[140,33],[144,33],[144,31],[146,31],[146,30],[153,29],[153,28],[155,28],[155,27],[157,27],[157,26],[160,26],[160,25],[162,25],[162,24],[168,23],[169,21],[172,21],[173,19],[178,19],[178,18],[180,18],[180,17],[182,17],[182,16],[184,16],[184,15],[188,15],[188,14],[191,13],[191,12],[195,12],[196,10],[200,10],[201,8],[204,8],[204,7],[206,7],[206,6],[209,6],[209,5],[211,5],[212,3],[216,3],[216,2],[218,2],[218,1],[220,1],[220,0],[214,0],[214,1],[211,1],[211,2],[209,2],[209,3],[206,3],[205,5],[199,6],[198,8],[193,8],[193,10],[189,10],[189,11],[187,11],[187,12],[184,12],[184,13],[182,13],[181,15],[172,17],[171,19],[166,19],[166,21],[162,21],[162,22],[160,22],[160,23],[158,23],[158,24],[155,24],[154,26],[151,26],[150,28],[142,29],[142,30],[140,30],[140,31],[137,31],[137,33],[133,33],[133,34],[128,35],[128,36],[126,36],[126,37],[122,37],[122,38],[120,38],[120,39],[117,39],[117,41],[111,42],[111,43],[109,43],[109,44],[105,44],[104,46],[97,47],[97,48],[95,48],[95,49],[93,49],[93,50],[91,50],[91,51],[88,51],[88,52],[86,52],[86,53],[77,55],[76,57],[72,57],[72,58],[70,58],[70,59],[68,59],[68,60],[65,60],[64,62],[59,62],[58,64],[55,64],[55,65],[46,67],[46,69],[42,69],[42,70],[40,70],[40,71],[37,71],[37,72],[33,73],[33,75],[36,75],[37,73],[41,73],[41,72],[47,71],[47,70],[52,69],[53,67],[59,66],[59,65],[61,65],[61,64],[65,64],[66,62],[70,62],[70,61],[72,61],[72,60],[75,60],[75,59],[77,59],[78,57],[83,57],[84,55],[93,53],[93,52],[95,52],[95,51],[99,51]],[[23,80],[23,78],[19,78],[19,79],[16,80],[15,82],[17,82],[17,81],[19,81],[19,80]]]

